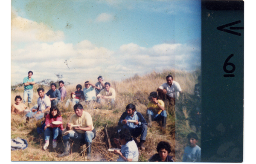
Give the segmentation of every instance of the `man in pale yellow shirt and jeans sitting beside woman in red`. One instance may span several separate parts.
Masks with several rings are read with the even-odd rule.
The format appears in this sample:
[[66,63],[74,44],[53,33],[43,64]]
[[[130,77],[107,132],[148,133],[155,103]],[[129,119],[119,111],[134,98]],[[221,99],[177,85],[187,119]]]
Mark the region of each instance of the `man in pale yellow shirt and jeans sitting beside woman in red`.
[[69,123],[67,124],[66,129],[71,130],[72,125],[80,125],[73,127],[67,135],[62,137],[65,150],[62,154],[59,154],[58,157],[63,157],[69,155],[70,152],[70,143],[69,139],[72,140],[84,140],[87,147],[87,158],[91,157],[91,144],[93,138],[96,137],[96,130],[93,127],[93,119],[90,113],[85,112],[81,104],[76,104],[74,106],[75,114],[71,116]]

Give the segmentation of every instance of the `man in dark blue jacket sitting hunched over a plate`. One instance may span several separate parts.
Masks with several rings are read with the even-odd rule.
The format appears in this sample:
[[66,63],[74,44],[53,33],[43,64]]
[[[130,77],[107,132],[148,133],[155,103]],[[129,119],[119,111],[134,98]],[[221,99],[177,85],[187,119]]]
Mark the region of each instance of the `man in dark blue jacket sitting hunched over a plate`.
[[134,104],[128,104],[126,106],[125,112],[121,115],[117,132],[120,132],[121,128],[129,129],[131,135],[134,138],[139,137],[140,135],[140,148],[141,150],[145,150],[144,142],[146,141],[147,136],[147,122],[145,118],[141,115],[140,112],[136,111],[136,106]]

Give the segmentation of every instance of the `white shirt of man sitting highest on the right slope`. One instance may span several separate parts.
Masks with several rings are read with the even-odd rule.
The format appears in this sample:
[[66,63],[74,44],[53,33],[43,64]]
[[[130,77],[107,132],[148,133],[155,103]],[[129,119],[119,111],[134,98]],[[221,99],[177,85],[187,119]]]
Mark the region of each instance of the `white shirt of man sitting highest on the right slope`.
[[179,92],[181,91],[180,84],[176,81],[172,81],[172,86],[169,86],[168,83],[163,83],[158,87],[159,89],[166,89],[166,95],[169,95],[171,98],[179,97]]

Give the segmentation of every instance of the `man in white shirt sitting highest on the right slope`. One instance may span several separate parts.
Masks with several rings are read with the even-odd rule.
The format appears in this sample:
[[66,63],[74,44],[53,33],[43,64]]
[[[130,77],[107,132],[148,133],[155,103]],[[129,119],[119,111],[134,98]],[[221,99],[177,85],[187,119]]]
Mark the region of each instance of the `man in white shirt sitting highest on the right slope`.
[[158,95],[163,101],[168,100],[175,105],[175,98],[182,94],[180,84],[173,80],[172,75],[166,76],[166,82],[157,88]]

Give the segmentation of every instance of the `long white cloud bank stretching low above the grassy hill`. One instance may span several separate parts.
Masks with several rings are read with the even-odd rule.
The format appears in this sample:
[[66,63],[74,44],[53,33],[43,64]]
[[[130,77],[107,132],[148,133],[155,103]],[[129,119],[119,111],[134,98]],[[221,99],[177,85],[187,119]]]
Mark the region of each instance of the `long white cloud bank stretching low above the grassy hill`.
[[12,84],[22,82],[29,70],[34,72],[35,81],[55,80],[55,74],[60,73],[64,75],[64,81],[71,83],[96,79],[99,75],[120,80],[153,70],[195,70],[200,66],[200,55],[199,47],[186,44],[164,43],[145,48],[129,43],[114,52],[96,47],[89,40],[76,45],[32,43],[12,51]]

